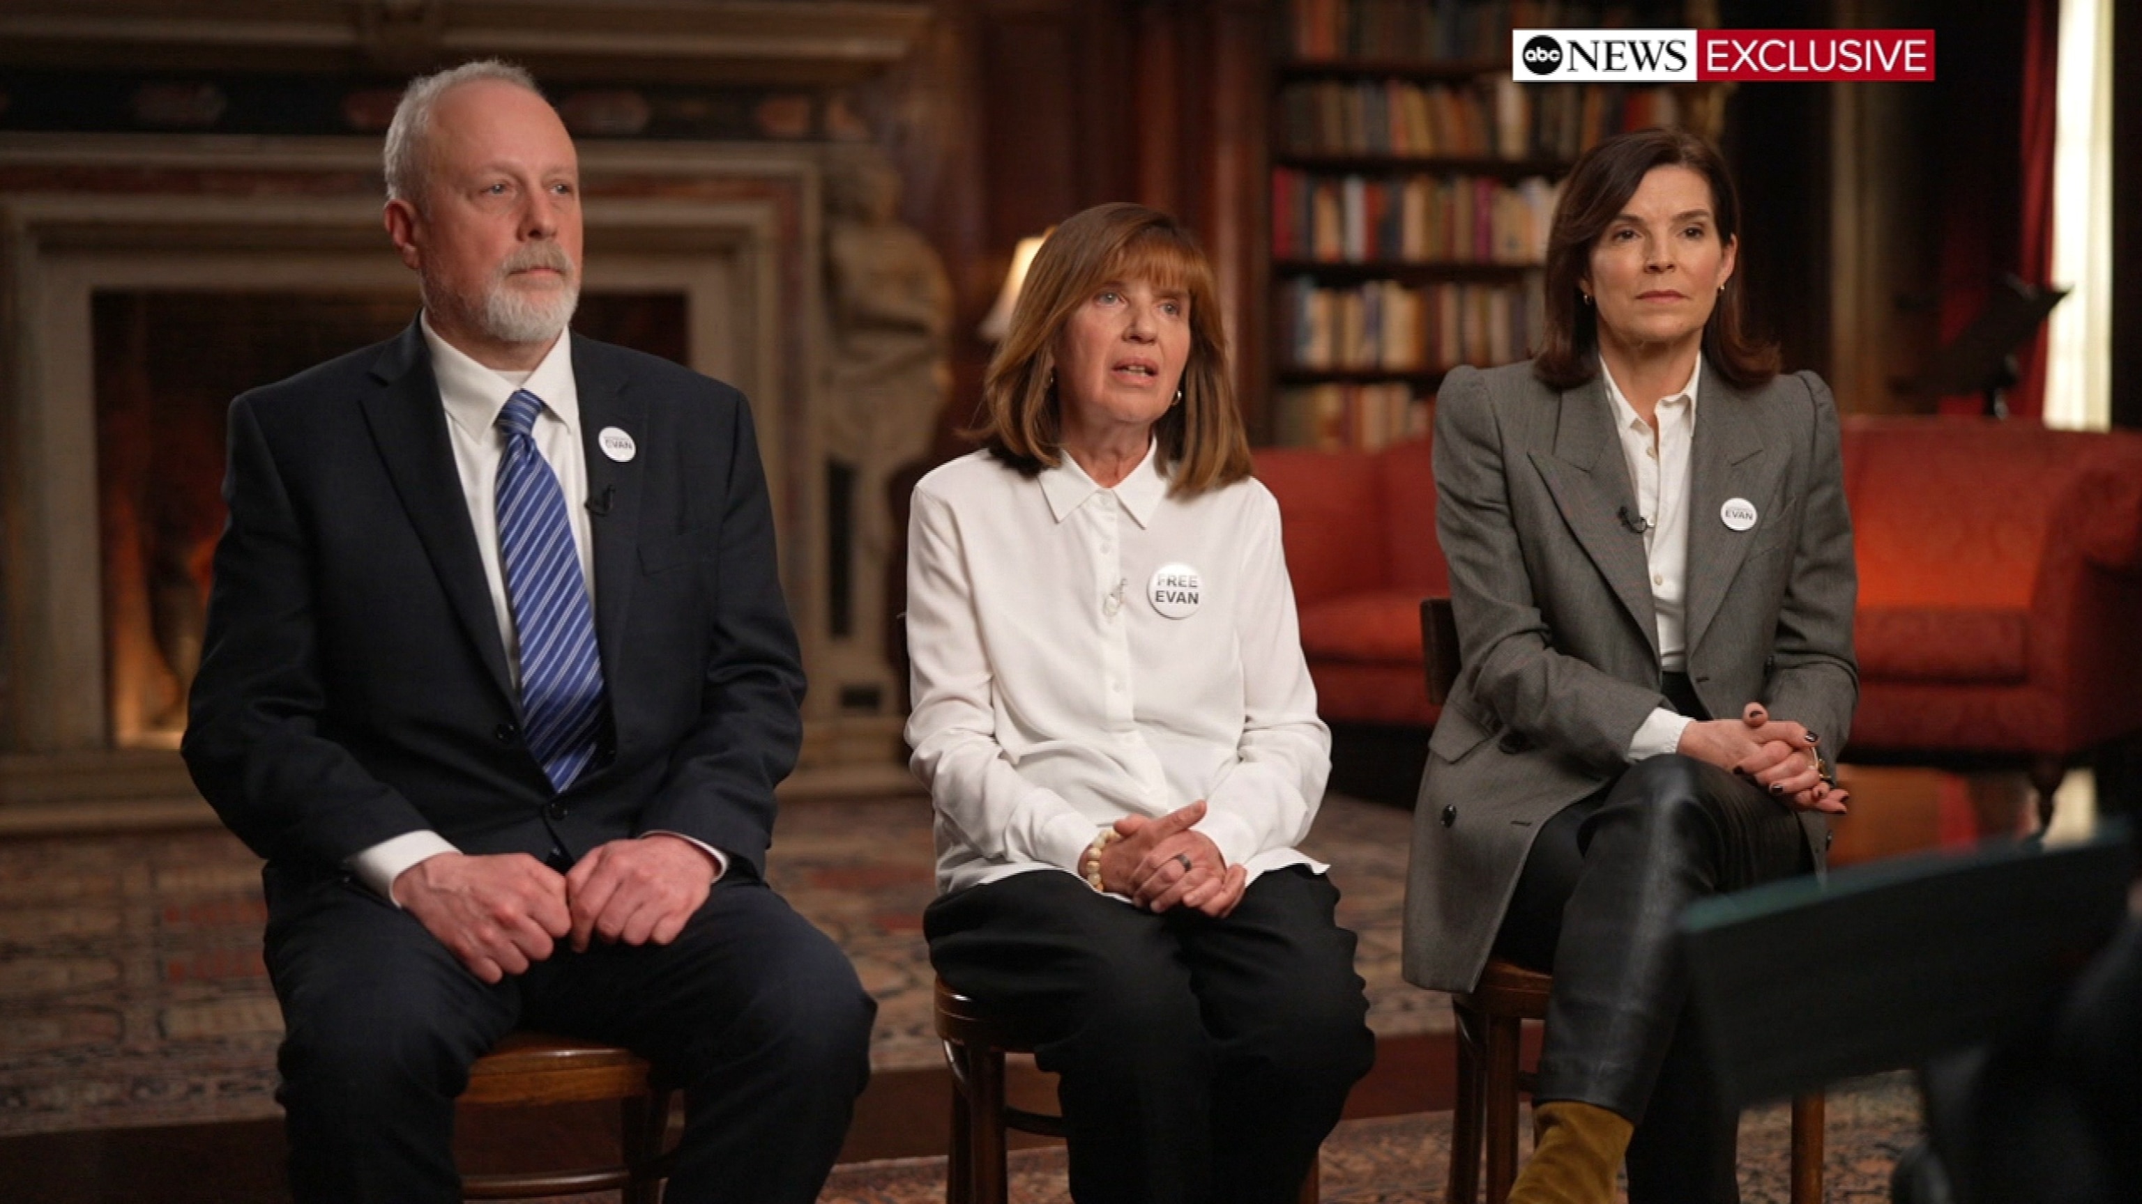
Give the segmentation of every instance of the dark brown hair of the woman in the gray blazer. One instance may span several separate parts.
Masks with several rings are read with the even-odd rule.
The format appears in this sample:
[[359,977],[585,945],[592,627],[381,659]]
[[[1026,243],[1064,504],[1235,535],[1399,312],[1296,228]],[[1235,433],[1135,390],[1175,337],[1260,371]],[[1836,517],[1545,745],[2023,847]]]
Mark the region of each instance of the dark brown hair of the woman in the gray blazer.
[[[1598,311],[1585,304],[1579,281],[1592,274],[1592,249],[1654,167],[1688,167],[1703,176],[1711,186],[1711,223],[1720,244],[1739,242],[1739,193],[1709,141],[1681,129],[1643,129],[1587,150],[1562,186],[1555,225],[1547,234],[1547,330],[1532,371],[1553,388],[1577,388],[1598,375]],[[1748,334],[1739,270],[1726,279],[1703,323],[1703,360],[1737,388],[1778,375],[1778,345]]]

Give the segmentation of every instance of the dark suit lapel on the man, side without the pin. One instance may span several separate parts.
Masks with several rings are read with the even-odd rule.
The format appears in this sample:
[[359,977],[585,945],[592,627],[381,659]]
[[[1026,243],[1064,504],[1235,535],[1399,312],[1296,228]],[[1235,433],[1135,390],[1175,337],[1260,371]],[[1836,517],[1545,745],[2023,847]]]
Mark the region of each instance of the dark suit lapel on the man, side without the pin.
[[499,615],[491,604],[484,559],[469,525],[469,499],[461,491],[461,469],[446,433],[446,407],[439,383],[431,375],[431,351],[422,330],[411,323],[379,362],[373,364],[379,388],[364,398],[364,420],[373,443],[386,463],[394,493],[401,497],[409,525],[416,527],[439,587],[454,615],[491,671],[499,694],[521,711],[521,696],[506,671],[506,645],[499,641]]

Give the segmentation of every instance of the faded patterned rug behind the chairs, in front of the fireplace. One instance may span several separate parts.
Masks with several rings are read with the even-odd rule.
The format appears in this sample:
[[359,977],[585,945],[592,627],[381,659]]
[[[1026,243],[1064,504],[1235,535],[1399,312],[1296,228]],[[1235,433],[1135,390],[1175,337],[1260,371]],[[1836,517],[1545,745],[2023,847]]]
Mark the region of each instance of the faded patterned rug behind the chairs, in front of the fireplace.
[[[1409,814],[1332,797],[1307,842],[1360,934],[1371,1024],[1450,1026],[1399,977]],[[769,876],[878,998],[872,1065],[938,1067],[919,797],[782,810]],[[283,1020],[261,966],[259,861],[225,831],[0,842],[0,1133],[276,1116]]]

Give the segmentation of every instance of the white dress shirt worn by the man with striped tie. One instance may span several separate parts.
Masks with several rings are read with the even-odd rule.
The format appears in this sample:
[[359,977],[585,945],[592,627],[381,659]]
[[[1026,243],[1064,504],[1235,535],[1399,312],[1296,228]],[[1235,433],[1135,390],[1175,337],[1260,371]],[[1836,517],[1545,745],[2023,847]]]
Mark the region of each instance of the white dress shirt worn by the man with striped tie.
[[[454,467],[461,469],[461,495],[469,503],[476,551],[484,559],[484,578],[491,583],[491,608],[497,613],[499,641],[506,645],[506,673],[512,675],[512,686],[518,690],[521,638],[514,630],[512,600],[506,596],[506,570],[499,561],[497,503],[499,461],[506,458],[506,431],[497,422],[499,411],[506,409],[516,390],[542,398],[531,437],[565,497],[565,521],[572,525],[572,544],[580,553],[580,581],[587,585],[589,613],[593,613],[595,602],[595,533],[587,506],[583,506],[587,499],[587,454],[580,443],[580,386],[572,375],[572,338],[559,334],[531,373],[501,373],[478,364],[439,338],[428,315],[420,315],[418,323],[431,347],[431,375],[439,381],[446,433],[454,446]],[[715,876],[728,870],[728,857],[722,851],[698,840],[692,844],[713,855]],[[349,870],[360,883],[398,904],[401,900],[392,891],[394,878],[439,853],[458,853],[458,848],[431,829],[405,831],[351,857]]]

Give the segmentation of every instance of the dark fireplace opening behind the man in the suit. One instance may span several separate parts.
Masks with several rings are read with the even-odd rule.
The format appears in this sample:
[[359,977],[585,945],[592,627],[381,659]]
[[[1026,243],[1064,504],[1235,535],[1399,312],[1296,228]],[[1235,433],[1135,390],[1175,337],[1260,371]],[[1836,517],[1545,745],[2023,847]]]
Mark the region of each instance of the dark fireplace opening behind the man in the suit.
[[[114,748],[178,748],[240,392],[390,338],[409,291],[99,289],[90,298],[105,698]],[[683,294],[583,294],[574,330],[690,362]]]

